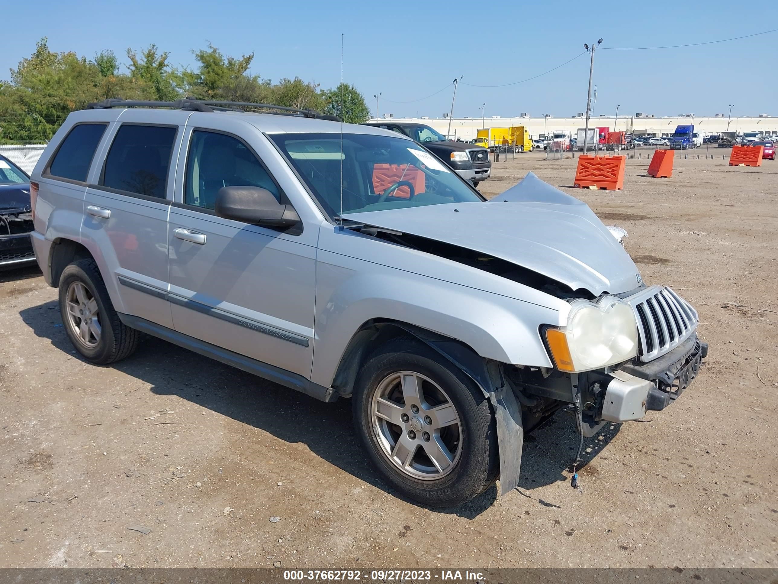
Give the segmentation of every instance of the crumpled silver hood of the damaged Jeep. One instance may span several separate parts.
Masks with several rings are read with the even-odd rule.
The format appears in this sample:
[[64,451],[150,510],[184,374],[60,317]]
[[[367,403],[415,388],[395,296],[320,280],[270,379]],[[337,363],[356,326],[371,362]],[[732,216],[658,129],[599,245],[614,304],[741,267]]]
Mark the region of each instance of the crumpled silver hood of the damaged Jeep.
[[490,202],[348,213],[344,218],[469,248],[595,296],[640,285],[629,254],[592,210],[534,174]]

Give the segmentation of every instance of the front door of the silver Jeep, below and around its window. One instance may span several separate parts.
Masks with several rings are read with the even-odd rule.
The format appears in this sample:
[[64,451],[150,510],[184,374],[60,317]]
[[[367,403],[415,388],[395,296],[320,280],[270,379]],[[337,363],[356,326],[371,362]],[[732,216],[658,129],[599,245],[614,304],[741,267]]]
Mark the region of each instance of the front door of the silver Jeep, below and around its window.
[[262,142],[267,139],[254,138],[250,146],[234,133],[187,128],[182,193],[170,209],[173,325],[184,335],[310,378],[316,248],[300,242],[299,230],[226,220],[213,210],[225,186],[266,188],[287,202],[258,155],[269,148]]

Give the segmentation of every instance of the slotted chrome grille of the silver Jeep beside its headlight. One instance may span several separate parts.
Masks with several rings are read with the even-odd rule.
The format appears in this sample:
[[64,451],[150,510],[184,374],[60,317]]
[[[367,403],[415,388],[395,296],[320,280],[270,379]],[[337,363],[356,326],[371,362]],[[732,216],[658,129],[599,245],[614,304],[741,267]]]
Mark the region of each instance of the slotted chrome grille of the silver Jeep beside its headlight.
[[666,286],[646,288],[625,300],[635,312],[644,363],[675,349],[697,328],[697,311]]

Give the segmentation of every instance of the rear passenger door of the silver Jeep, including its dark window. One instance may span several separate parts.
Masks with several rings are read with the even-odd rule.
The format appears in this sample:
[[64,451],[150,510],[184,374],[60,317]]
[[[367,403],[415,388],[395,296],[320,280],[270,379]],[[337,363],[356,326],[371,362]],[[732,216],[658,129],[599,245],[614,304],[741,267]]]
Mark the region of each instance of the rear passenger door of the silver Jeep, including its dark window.
[[[183,116],[182,116],[183,114]],[[104,160],[86,189],[82,236],[118,292],[117,311],[173,328],[168,289],[167,215],[172,168],[186,112],[127,110],[110,131]],[[99,257],[98,257],[99,256]],[[102,267],[101,266],[101,267]]]

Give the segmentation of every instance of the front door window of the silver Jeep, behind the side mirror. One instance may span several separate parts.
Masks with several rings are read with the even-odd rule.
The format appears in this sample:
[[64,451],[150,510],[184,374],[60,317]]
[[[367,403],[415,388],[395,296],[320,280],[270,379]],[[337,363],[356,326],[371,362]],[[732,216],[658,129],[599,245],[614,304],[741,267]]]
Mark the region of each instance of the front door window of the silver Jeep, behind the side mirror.
[[279,188],[244,142],[233,136],[195,130],[187,157],[184,202],[213,209],[222,187],[261,187],[280,200]]

